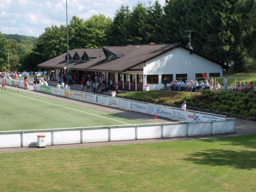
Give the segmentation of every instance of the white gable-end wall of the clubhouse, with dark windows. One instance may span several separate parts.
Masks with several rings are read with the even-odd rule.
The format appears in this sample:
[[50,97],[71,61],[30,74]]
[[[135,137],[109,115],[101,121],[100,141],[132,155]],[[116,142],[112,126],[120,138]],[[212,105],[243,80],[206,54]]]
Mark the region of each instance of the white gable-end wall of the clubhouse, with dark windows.
[[[161,75],[173,74],[173,79],[176,79],[176,74],[187,74],[187,78],[194,81],[196,73],[207,73],[208,77],[209,73],[220,73],[222,76],[223,69],[219,64],[194,53],[190,54],[188,50],[180,47],[147,61],[146,66],[143,66],[143,74],[159,75],[158,84],[149,84],[150,90],[163,88]],[[143,76],[143,87],[146,81],[146,76]]]

